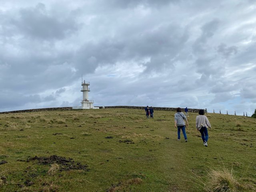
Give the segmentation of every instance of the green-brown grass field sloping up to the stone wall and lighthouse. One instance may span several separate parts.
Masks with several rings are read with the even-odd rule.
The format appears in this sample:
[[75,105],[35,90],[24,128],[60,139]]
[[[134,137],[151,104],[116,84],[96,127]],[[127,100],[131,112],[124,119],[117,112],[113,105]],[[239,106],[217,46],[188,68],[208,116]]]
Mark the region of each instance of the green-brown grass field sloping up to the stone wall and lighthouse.
[[208,113],[205,147],[198,114],[189,114],[184,142],[176,140],[175,112],[155,111],[154,119],[144,113],[1,114],[0,191],[203,192],[220,170],[232,172],[238,191],[256,191],[255,118]]

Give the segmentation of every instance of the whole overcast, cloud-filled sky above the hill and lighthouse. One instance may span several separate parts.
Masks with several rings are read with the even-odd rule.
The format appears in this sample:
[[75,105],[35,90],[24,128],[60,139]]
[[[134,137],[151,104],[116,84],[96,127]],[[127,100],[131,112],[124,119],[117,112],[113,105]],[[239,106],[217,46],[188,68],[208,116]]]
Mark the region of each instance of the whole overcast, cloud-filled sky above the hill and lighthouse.
[[255,0],[0,0],[0,111],[256,108]]

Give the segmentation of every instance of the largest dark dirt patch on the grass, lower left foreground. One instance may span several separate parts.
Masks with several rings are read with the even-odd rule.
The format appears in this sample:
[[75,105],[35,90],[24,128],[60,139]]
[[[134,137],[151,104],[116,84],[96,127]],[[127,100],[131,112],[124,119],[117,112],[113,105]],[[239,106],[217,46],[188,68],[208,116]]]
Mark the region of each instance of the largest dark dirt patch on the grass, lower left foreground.
[[64,158],[56,155],[52,155],[50,157],[32,157],[28,158],[26,162],[30,161],[38,161],[40,165],[51,165],[51,164],[58,164],[60,166],[59,171],[68,171],[68,170],[84,170],[89,171],[88,165],[82,165],[80,162],[75,162],[72,158]]

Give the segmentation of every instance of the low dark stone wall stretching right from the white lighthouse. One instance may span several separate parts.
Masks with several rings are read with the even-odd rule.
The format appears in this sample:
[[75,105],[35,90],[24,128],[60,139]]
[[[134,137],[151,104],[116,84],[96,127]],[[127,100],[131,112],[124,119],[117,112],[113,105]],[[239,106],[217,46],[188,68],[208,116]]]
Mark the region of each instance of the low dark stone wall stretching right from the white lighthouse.
[[[125,108],[125,109],[141,109],[144,110],[145,106],[104,106],[105,109],[117,109],[117,108]],[[99,107],[102,109],[102,106]],[[173,107],[153,107],[154,110],[160,110],[160,111],[176,111],[177,108]],[[184,108],[182,108],[182,111],[184,111]],[[190,109],[188,108],[188,112],[190,113],[198,113],[199,109]]]

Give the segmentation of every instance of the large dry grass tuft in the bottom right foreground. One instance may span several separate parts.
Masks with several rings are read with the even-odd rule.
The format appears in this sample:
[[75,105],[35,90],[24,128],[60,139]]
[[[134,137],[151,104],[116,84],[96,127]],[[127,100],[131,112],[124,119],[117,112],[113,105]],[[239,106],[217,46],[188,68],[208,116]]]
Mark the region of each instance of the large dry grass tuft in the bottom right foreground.
[[240,192],[238,180],[234,178],[233,169],[212,170],[208,173],[210,182],[205,186],[209,192]]

